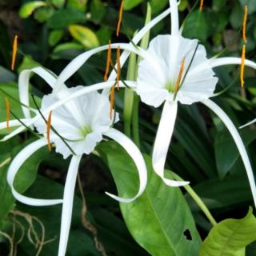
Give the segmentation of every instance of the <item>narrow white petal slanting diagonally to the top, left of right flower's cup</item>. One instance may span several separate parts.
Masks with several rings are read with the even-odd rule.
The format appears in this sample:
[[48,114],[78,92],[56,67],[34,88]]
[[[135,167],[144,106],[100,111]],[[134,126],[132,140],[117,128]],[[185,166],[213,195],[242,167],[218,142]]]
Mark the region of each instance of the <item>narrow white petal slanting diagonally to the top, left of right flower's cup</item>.
[[[146,26],[143,26],[142,30],[139,30],[138,33],[132,38],[132,42],[137,45],[138,42],[141,41],[141,39],[144,37],[144,35],[151,30],[153,26],[158,24],[158,22],[161,22],[163,18],[166,18],[167,15],[170,14],[170,8],[162,12],[162,14],[159,14],[156,18],[152,19]],[[130,45],[132,46],[132,43],[130,42]],[[127,58],[130,56],[130,51],[125,50],[120,57],[120,64],[123,66],[127,60]],[[109,80],[114,80],[116,78],[116,72],[113,70],[110,74]]]

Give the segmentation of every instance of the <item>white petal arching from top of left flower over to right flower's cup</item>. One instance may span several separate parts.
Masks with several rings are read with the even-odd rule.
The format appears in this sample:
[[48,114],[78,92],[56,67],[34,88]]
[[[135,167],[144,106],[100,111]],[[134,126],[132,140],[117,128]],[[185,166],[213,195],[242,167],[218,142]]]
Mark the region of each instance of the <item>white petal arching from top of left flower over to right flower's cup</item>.
[[[118,49],[120,47],[121,50],[128,50],[130,52],[134,52],[135,54],[138,54],[142,58],[150,58],[149,55],[146,54],[145,50],[135,48],[133,45],[130,45],[128,43],[114,43],[111,44],[112,49]],[[73,61],[71,61],[64,70],[62,70],[62,73],[59,74],[58,79],[56,81],[56,84],[54,86],[54,93],[57,93],[59,90],[62,89],[62,85],[66,82],[68,78],[70,78],[91,56],[94,54],[97,54],[101,52],[102,50],[108,50],[109,46],[100,46],[92,50],[88,50],[83,54],[78,55],[78,57],[74,58]],[[152,59],[152,62],[153,59]],[[109,79],[112,80],[112,79]]]

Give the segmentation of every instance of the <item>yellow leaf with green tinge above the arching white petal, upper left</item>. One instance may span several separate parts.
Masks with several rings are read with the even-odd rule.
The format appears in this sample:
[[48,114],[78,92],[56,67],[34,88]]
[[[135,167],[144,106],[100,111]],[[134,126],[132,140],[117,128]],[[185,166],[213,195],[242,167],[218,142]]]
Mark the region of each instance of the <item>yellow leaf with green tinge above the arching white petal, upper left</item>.
[[86,26],[72,25],[69,26],[70,34],[78,42],[81,42],[86,48],[94,48],[99,45],[98,38],[93,30]]

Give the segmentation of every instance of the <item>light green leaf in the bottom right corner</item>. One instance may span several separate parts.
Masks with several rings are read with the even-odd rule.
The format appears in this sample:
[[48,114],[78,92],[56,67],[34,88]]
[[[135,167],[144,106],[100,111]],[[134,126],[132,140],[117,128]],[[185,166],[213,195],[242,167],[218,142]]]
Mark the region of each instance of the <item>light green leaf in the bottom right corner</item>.
[[208,234],[200,248],[199,256],[242,256],[245,247],[256,240],[256,218],[250,208],[242,219],[219,222]]

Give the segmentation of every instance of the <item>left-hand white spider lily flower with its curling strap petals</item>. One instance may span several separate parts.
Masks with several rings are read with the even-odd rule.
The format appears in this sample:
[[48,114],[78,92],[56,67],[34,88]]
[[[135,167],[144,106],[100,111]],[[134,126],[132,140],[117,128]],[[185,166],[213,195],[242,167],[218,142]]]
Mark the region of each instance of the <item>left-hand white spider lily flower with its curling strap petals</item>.
[[[27,87],[31,72],[39,74],[42,78],[46,78],[46,82],[48,82],[50,86],[54,86],[54,83],[56,82],[54,75],[40,67],[33,70],[23,71],[19,78],[20,86]],[[105,82],[103,84],[103,88],[110,88],[110,86],[113,86],[113,82]],[[123,86],[122,83],[120,86]],[[118,122],[118,114],[114,115],[115,119],[110,119],[109,98],[107,95],[99,94],[97,92],[99,89],[102,89],[101,83],[91,87],[76,86],[69,89],[64,85],[62,90],[59,90],[57,94],[49,94],[42,98],[40,111],[44,118],[38,114],[38,110],[33,110],[37,115],[34,118],[30,118],[30,112],[27,111],[25,107],[25,105],[29,103],[29,98],[26,97],[26,94],[20,93],[22,95],[22,103],[24,104],[23,111],[27,117],[20,121],[26,124],[26,126],[33,125],[38,130],[38,134],[42,134],[42,138],[30,143],[30,145],[26,146],[18,153],[10,163],[7,172],[7,181],[14,197],[27,205],[50,206],[60,203],[63,204],[58,256],[64,256],[66,253],[74,200],[74,187],[79,162],[82,158],[82,154],[90,154],[98,142],[102,141],[103,136],[118,142],[126,150],[134,160],[135,166],[138,168],[139,177],[138,194],[133,198],[120,198],[107,192],[106,194],[119,202],[133,202],[146,188],[147,170],[142,154],[130,138],[127,138],[126,135],[112,128],[114,122]],[[48,117],[50,111],[52,111],[51,126],[54,129],[50,130],[49,133],[44,119]],[[18,126],[18,122],[18,120],[11,120],[10,126]],[[4,128],[5,126],[6,123],[0,123],[0,128]],[[14,133],[11,133],[11,136],[8,137],[7,135],[5,140],[11,138],[14,134],[18,134],[24,129],[24,126],[18,127],[18,132],[16,130]],[[56,131],[62,138],[57,135]],[[62,154],[63,158],[67,158],[71,155],[63,198],[39,199],[29,198],[19,194],[14,188],[14,179],[18,170],[22,164],[26,162],[26,159],[30,158],[34,152],[49,143],[48,138],[50,138],[50,142],[54,143],[56,151]],[[63,140],[65,142],[63,142]]]

